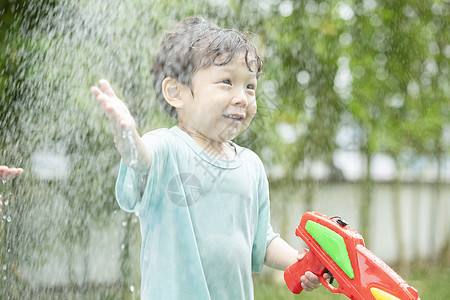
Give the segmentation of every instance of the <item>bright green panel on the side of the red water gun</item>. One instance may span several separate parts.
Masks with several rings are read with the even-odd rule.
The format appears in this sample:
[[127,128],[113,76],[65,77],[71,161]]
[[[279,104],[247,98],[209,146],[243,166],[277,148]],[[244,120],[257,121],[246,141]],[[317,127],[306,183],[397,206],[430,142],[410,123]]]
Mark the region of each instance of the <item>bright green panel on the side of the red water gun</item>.
[[313,221],[307,221],[305,229],[345,274],[350,279],[353,279],[355,275],[353,274],[344,238],[333,230]]

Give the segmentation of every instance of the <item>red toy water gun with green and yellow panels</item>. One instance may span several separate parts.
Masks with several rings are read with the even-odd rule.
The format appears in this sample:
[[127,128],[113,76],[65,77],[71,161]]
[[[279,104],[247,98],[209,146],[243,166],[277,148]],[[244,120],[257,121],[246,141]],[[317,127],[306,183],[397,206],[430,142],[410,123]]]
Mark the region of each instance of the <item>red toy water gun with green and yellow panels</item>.
[[[309,246],[308,253],[284,272],[291,292],[301,293],[300,277],[316,274],[332,293],[355,300],[419,299],[417,290],[364,246],[362,236],[339,217],[316,212],[303,215],[296,235]],[[323,278],[331,275],[330,282]],[[338,287],[332,285],[336,279]]]

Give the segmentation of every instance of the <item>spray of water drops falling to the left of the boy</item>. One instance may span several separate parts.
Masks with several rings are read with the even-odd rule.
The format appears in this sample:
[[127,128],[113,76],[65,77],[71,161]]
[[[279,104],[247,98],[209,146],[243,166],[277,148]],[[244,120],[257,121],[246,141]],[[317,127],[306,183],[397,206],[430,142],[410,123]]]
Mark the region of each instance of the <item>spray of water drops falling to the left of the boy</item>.
[[20,38],[6,47],[14,71],[2,99],[14,121],[2,161],[25,174],[0,183],[1,299],[139,297],[137,217],[115,203],[119,156],[89,88],[107,78],[141,132],[173,124],[154,101],[152,58],[164,30],[214,6],[180,3],[9,4]]

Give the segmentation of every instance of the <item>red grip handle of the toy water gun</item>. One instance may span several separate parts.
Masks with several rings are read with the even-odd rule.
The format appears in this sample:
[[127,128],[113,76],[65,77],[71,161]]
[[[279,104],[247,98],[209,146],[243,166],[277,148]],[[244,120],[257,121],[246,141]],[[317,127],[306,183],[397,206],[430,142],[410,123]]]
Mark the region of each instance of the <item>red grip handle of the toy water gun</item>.
[[319,276],[319,278],[322,278],[323,273],[325,273],[325,267],[312,251],[308,251],[301,260],[284,271],[284,280],[289,290],[294,294],[300,294],[303,291],[300,277],[305,275],[306,271],[311,271]]

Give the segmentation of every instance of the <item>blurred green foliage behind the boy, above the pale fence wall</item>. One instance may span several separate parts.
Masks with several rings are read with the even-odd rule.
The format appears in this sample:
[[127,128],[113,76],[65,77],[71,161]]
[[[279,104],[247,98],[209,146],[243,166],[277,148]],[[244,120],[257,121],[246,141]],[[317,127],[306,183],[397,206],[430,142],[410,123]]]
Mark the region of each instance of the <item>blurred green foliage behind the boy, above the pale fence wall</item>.
[[[439,161],[450,151],[447,4],[1,0],[0,163],[24,167],[29,183],[17,187],[24,200],[16,217],[23,221],[9,234],[21,234],[24,250],[15,259],[23,254],[32,263],[26,250],[52,248],[58,235],[64,243],[85,243],[91,222],[115,213],[119,157],[89,87],[109,78],[141,133],[172,126],[150,88],[149,70],[162,33],[188,15],[248,31],[264,53],[259,112],[237,142],[260,154],[272,181],[305,179],[312,190],[317,161],[331,169],[327,179],[342,180],[333,161],[342,149],[364,153],[367,170],[376,153],[389,154],[399,168],[420,156]],[[343,144],[338,136],[345,129],[352,138]],[[38,151],[68,157],[69,175],[36,175]],[[371,180],[367,172],[363,211]],[[64,221],[31,226],[39,220],[35,211],[45,218],[55,209]],[[129,256],[124,251],[122,259]]]

